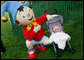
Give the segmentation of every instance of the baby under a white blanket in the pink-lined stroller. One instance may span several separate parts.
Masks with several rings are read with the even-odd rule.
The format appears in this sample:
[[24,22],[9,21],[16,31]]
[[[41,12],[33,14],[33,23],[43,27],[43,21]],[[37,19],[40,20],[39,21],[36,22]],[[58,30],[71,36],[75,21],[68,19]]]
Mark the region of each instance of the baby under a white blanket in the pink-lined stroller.
[[58,45],[59,49],[64,50],[66,46],[66,41],[69,41],[71,37],[67,33],[61,31],[58,26],[53,27],[53,32],[54,33],[52,33],[49,38],[49,42],[55,42]]

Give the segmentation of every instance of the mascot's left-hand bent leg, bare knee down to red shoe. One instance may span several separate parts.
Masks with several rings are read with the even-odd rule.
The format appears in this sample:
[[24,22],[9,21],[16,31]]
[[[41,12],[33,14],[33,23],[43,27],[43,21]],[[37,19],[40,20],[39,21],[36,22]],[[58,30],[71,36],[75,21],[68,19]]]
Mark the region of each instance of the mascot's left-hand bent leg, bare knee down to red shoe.
[[28,48],[28,59],[34,59],[37,57],[36,49],[33,47],[34,43],[32,41],[26,40],[26,46]]

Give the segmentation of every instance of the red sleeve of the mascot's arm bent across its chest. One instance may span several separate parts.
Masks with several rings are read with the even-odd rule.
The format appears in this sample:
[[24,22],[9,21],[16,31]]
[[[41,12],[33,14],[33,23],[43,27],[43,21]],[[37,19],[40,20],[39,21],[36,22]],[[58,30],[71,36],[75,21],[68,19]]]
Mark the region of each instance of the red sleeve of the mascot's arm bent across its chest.
[[29,41],[31,41],[35,36],[35,32],[33,30],[28,32],[25,27],[23,27],[23,33],[25,38]]

